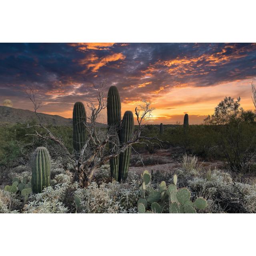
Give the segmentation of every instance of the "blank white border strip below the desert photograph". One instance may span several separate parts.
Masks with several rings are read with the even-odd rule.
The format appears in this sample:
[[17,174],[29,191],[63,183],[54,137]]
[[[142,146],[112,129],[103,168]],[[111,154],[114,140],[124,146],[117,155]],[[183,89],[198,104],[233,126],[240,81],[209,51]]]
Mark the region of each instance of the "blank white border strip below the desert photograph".
[[255,214],[2,214],[0,220],[1,255],[255,252]]

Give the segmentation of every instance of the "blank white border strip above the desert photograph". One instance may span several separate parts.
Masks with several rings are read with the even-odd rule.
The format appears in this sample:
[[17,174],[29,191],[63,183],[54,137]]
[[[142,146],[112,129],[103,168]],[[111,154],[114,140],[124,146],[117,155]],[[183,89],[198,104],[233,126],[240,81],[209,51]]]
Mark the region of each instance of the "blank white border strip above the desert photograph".
[[1,42],[255,42],[252,0],[8,0]]

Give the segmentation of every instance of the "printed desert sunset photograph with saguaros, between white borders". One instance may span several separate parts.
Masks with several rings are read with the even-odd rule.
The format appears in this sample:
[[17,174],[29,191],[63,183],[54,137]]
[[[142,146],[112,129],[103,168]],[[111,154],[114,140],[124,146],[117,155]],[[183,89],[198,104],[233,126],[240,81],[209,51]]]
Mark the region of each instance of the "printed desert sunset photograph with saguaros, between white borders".
[[0,43],[0,213],[256,213],[255,43]]

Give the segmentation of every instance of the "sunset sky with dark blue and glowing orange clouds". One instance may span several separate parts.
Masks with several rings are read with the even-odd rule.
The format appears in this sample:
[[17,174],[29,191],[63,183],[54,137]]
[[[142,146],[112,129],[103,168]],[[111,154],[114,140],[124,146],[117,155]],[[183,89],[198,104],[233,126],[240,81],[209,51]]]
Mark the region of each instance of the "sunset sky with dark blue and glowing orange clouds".
[[[200,124],[225,96],[254,109],[256,44],[223,43],[29,43],[0,44],[0,104],[32,110],[24,92],[32,86],[39,112],[72,117],[76,101],[95,100],[93,84],[118,87],[122,114],[142,99],[156,108],[152,124]],[[255,82],[256,83],[256,82]],[[101,122],[106,122],[106,111]]]

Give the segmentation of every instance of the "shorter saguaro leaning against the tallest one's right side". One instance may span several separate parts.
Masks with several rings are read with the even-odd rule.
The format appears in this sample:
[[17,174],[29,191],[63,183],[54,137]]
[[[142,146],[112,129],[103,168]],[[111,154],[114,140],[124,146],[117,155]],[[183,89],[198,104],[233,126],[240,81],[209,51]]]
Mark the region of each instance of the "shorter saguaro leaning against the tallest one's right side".
[[[131,111],[126,111],[121,124],[119,140],[120,145],[128,142],[132,138],[134,131],[134,120]],[[125,182],[128,174],[129,164],[130,164],[131,148],[128,147],[124,153],[119,156],[119,171],[118,171],[118,181]]]

